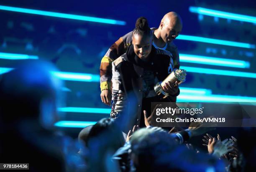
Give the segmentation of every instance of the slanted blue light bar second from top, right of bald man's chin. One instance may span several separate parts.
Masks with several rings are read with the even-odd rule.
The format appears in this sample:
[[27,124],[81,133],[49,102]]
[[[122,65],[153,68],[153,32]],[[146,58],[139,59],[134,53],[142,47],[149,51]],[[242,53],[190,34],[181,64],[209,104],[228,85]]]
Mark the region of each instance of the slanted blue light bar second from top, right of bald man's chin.
[[233,46],[233,47],[255,48],[255,45],[253,45],[253,44],[248,44],[248,43],[243,43],[243,42],[226,41],[226,40],[218,40],[218,39],[199,37],[199,36],[179,35],[176,39],[177,40],[206,42],[206,43],[210,43],[210,44],[227,45],[227,46]]

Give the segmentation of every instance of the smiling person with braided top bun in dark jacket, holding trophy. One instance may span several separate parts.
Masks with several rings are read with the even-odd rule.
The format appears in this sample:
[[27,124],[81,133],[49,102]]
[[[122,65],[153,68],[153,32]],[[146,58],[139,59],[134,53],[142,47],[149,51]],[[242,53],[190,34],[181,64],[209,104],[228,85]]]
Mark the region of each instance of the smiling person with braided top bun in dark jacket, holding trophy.
[[[169,51],[152,46],[153,32],[148,27],[145,17],[139,17],[132,32],[132,44],[125,54],[112,63],[112,95],[113,104],[110,117],[117,118],[123,115],[128,107],[127,95],[133,94],[137,104],[135,109],[136,122],[133,125],[144,127],[143,110],[148,114],[151,111],[151,102],[175,102],[179,95],[179,86],[166,83],[163,90],[170,96],[157,95],[154,90],[156,83],[163,81],[169,72],[172,72],[172,55]],[[132,119],[130,119],[132,120]]]

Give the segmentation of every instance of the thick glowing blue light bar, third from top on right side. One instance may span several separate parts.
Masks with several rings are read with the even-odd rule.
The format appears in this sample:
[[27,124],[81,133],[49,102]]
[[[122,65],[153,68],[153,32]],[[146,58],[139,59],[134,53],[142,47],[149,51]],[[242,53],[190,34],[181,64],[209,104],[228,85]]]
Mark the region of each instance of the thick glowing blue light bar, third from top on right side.
[[181,62],[189,63],[199,63],[204,65],[216,65],[216,66],[227,66],[227,67],[239,67],[239,68],[249,68],[250,62],[243,60],[232,60],[216,57],[206,57],[199,55],[188,55],[188,54],[179,54],[179,60]]

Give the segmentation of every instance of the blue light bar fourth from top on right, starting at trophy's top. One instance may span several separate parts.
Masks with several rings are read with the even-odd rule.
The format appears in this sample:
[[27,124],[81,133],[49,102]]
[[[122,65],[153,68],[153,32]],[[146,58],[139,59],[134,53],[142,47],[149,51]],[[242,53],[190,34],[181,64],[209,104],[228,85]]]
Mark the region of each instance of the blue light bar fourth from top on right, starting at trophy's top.
[[184,70],[187,70],[187,72],[194,72],[194,73],[256,78],[256,73],[250,73],[250,72],[237,72],[237,71],[231,71],[231,70],[218,70],[218,69],[207,69],[207,68],[187,67],[187,66],[183,66],[181,68]]

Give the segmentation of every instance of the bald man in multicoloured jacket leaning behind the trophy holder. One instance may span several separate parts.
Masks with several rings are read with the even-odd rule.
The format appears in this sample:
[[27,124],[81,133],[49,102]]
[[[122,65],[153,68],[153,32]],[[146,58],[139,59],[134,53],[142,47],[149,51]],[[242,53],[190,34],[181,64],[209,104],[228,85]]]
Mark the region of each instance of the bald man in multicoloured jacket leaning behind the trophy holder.
[[[174,45],[174,40],[182,31],[182,20],[176,12],[168,12],[162,18],[158,28],[153,27],[153,45],[172,53],[171,63],[174,68],[179,68],[179,53],[177,46]],[[132,43],[132,32],[127,33],[123,37],[120,37],[109,49],[100,63],[100,90],[101,100],[106,105],[110,106],[112,91],[111,91],[111,79],[112,79],[112,62],[120,55],[123,55],[127,47]],[[169,67],[172,67],[170,65]],[[169,69],[172,71],[173,69]]]

